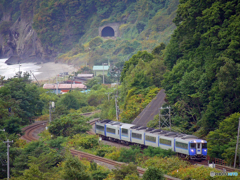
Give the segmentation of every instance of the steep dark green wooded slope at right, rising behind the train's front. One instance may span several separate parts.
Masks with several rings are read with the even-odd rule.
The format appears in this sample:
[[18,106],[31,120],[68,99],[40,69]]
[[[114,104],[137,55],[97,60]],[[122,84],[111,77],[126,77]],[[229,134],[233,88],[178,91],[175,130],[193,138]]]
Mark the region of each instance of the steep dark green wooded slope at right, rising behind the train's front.
[[231,162],[240,107],[239,12],[238,0],[180,1],[164,57],[175,126],[201,136],[217,129],[208,136],[210,155]]

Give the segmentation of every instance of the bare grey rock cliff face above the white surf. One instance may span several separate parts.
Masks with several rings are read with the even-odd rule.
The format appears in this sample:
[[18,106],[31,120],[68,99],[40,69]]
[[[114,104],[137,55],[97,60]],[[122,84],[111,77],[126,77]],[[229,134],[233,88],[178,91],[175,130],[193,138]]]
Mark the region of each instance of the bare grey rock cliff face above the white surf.
[[[1,23],[10,22],[9,14]],[[23,62],[46,62],[49,54],[44,51],[37,33],[32,28],[32,20],[19,17],[5,34],[0,34],[0,58],[9,58],[8,64]]]

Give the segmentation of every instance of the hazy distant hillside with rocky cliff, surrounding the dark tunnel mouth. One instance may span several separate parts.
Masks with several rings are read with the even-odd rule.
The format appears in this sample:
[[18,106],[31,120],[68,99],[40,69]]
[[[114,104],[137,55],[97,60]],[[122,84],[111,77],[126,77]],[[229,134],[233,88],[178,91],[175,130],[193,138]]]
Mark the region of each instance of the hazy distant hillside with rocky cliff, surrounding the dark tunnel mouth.
[[[178,0],[0,1],[0,57],[81,65],[129,59],[169,42]],[[118,24],[118,37],[99,27]],[[100,34],[101,35],[101,34]]]

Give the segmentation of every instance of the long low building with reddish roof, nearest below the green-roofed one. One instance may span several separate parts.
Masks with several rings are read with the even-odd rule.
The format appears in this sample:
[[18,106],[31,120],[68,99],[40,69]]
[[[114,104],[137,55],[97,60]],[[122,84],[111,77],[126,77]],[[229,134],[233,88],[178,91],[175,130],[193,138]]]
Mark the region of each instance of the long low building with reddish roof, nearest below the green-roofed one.
[[84,84],[58,84],[58,85],[57,84],[44,84],[43,88],[49,89],[56,94],[64,94],[71,89],[72,90],[77,90],[77,89],[86,90],[87,86],[85,86]]

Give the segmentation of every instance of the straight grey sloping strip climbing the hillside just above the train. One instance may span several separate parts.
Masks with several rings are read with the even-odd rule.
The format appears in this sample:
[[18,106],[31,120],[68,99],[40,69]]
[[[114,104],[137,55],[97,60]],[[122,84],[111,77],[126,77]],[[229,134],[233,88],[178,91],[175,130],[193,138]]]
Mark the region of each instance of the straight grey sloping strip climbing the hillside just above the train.
[[154,116],[159,113],[159,108],[165,103],[165,97],[165,90],[162,89],[152,102],[134,119],[132,124],[147,126],[147,123],[153,120]]

